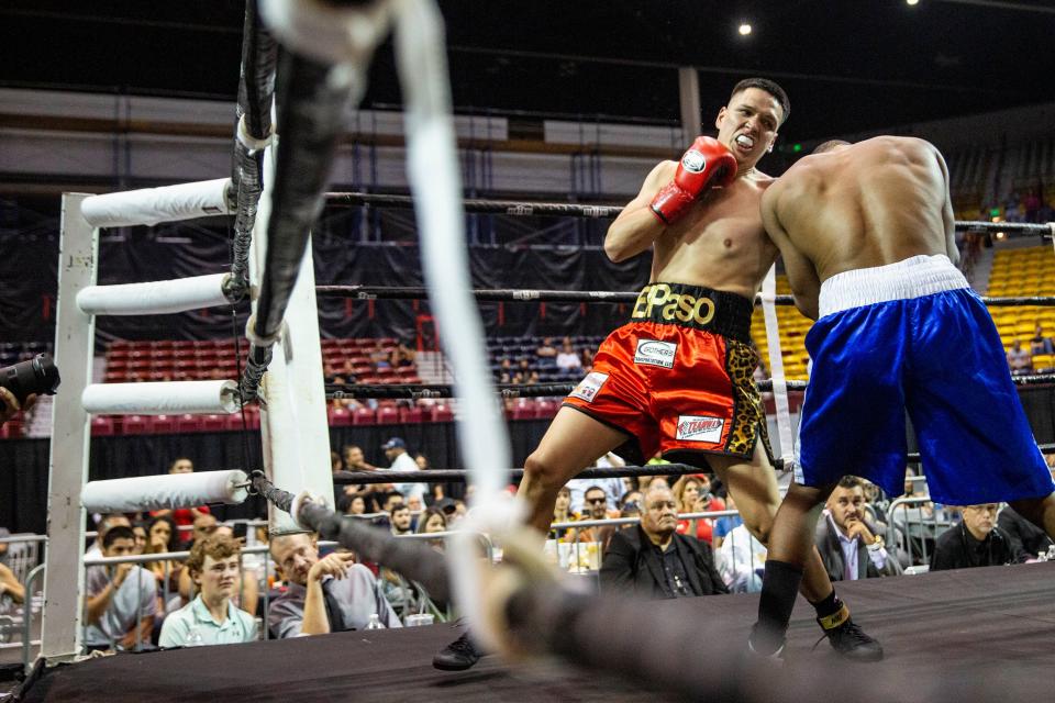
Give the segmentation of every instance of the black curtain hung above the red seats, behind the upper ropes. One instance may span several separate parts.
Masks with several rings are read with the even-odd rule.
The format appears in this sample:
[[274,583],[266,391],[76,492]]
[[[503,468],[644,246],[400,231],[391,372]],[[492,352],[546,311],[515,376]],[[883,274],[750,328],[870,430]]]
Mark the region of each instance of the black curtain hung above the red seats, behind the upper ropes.
[[[167,280],[226,270],[230,245],[224,230],[195,224],[108,231],[100,244],[99,283]],[[474,247],[469,252],[474,286],[554,290],[632,291],[648,278],[651,258],[612,264],[598,249],[580,247]],[[40,237],[32,246],[8,246],[0,257],[0,342],[42,341],[55,336],[58,238]],[[412,243],[363,246],[325,231],[314,238],[315,279],[320,284],[422,286],[420,250]],[[597,303],[491,303],[481,306],[491,336],[607,334],[629,315],[625,306]],[[320,300],[323,336],[413,338],[426,301]],[[235,323],[234,325],[232,323]],[[100,317],[98,338],[202,339],[231,336],[245,328],[224,309],[174,315]]]

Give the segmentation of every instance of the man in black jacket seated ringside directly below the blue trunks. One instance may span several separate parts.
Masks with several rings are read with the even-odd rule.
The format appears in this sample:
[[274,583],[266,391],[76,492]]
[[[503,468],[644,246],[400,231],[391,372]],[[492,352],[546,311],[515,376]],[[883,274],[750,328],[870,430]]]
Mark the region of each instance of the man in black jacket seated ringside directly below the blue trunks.
[[1020,563],[1025,555],[996,526],[997,504],[967,505],[963,518],[941,535],[931,555],[931,571]]

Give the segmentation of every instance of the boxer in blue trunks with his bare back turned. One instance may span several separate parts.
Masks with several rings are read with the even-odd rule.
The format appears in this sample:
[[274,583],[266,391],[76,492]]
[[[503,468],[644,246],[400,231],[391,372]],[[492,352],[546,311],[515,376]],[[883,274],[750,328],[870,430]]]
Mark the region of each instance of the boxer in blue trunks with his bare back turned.
[[996,326],[955,266],[948,169],[934,146],[824,143],[769,187],[762,216],[796,305],[817,320],[796,481],[774,522],[749,639],[768,656],[784,647],[817,518],[840,478],[901,492],[906,412],[935,501],[1007,501],[1055,536],[1055,484]]

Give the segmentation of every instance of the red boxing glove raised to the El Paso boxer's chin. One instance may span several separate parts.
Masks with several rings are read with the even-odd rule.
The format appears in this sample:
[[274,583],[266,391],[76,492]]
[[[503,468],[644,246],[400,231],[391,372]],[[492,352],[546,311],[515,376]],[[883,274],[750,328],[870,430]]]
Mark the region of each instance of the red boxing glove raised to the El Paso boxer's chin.
[[674,181],[652,199],[652,212],[665,224],[674,224],[704,190],[729,186],[736,178],[736,158],[710,136],[698,136],[681,156]]

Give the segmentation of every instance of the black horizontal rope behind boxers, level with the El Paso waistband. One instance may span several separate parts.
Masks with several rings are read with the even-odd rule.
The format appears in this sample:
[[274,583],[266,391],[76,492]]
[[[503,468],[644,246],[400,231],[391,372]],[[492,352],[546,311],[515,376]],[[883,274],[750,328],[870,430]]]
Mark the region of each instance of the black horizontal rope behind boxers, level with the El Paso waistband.
[[[540,302],[540,303],[611,303],[633,304],[638,292],[603,290],[528,290],[517,288],[476,289],[471,291],[477,302]],[[315,295],[320,298],[353,298],[355,300],[425,300],[427,290],[420,287],[388,286],[316,286]],[[1018,298],[987,298],[981,302],[993,308],[1017,305],[1036,305],[1055,308],[1055,297],[1034,295]],[[755,304],[762,303],[762,297],[755,297]],[[777,305],[793,305],[795,297],[775,295]]]

